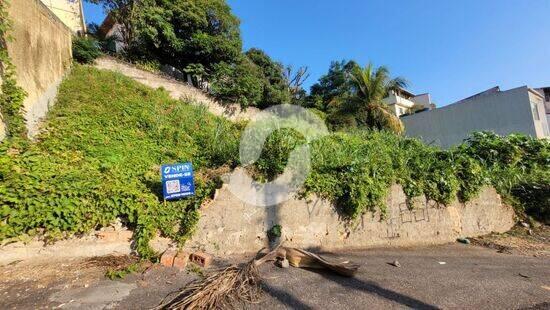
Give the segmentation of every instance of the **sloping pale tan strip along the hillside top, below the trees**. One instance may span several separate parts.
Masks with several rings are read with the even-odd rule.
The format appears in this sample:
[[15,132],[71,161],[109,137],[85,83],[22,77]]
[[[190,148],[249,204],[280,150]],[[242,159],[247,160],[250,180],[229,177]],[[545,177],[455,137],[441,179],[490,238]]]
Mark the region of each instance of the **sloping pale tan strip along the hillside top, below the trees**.
[[160,74],[138,69],[112,57],[101,57],[97,59],[95,67],[98,69],[119,72],[152,88],[162,87],[176,100],[182,99],[191,104],[203,105],[212,114],[223,116],[233,121],[250,119],[259,112],[256,108],[248,108],[243,111],[240,106],[236,104],[221,105],[201,90],[189,86],[186,83],[179,82]]

